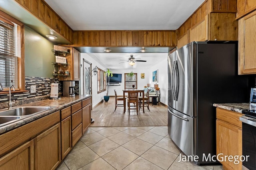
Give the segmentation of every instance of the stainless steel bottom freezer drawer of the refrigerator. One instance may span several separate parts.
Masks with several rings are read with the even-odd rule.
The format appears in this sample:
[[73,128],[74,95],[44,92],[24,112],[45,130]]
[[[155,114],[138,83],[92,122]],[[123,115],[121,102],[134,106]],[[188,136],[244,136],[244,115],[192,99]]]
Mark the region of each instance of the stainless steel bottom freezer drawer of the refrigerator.
[[197,117],[189,117],[168,107],[168,134],[187,156],[197,154],[196,121]]

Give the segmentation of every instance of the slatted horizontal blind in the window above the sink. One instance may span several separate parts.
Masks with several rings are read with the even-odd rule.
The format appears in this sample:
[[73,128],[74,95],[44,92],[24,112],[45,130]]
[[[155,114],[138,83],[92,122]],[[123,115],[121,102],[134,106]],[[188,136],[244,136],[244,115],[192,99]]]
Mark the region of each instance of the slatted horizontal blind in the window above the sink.
[[5,88],[18,87],[16,66],[15,25],[0,20],[0,82]]

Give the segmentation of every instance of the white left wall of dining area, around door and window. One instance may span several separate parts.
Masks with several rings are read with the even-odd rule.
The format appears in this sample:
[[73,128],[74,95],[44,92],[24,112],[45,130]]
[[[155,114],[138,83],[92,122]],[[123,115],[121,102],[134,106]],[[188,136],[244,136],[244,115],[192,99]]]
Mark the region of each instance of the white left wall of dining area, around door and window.
[[[92,68],[97,66],[98,68],[100,68],[102,70],[106,69],[104,66],[102,66],[97,61],[92,59],[92,57],[90,57],[86,53],[81,53],[81,57],[80,57],[81,64],[84,62],[83,59],[92,63]],[[82,84],[82,82],[84,81],[84,77],[83,77],[83,74],[82,74],[83,73],[83,67],[81,67],[80,71],[81,71],[80,84]],[[80,88],[80,94],[83,94],[83,88],[82,87]],[[102,93],[98,94],[97,74],[96,74],[96,76],[92,76],[92,107],[96,106],[99,102],[101,102],[102,99],[103,99],[103,96],[106,96],[106,92],[102,92]]]

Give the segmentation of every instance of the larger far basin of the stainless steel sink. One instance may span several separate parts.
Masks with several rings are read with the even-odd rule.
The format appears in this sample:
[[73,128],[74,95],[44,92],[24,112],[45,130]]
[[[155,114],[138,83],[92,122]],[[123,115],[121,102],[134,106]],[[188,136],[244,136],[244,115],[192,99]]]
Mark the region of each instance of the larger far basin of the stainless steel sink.
[[10,110],[5,109],[0,111],[0,116],[24,116],[40,113],[46,111],[52,107],[49,106],[22,106],[22,107],[13,107]]

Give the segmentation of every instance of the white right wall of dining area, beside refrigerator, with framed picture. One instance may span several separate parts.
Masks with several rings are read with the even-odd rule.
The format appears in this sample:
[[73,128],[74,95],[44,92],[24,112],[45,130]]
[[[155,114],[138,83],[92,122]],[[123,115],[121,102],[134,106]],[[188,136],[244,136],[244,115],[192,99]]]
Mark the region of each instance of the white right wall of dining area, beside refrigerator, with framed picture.
[[[150,87],[154,87],[154,84],[158,84],[160,88],[160,102],[163,104],[168,105],[168,55],[166,54],[166,60],[157,63],[156,65],[152,66],[149,70],[150,72]],[[158,83],[152,82],[152,74],[153,71],[158,69]]]

